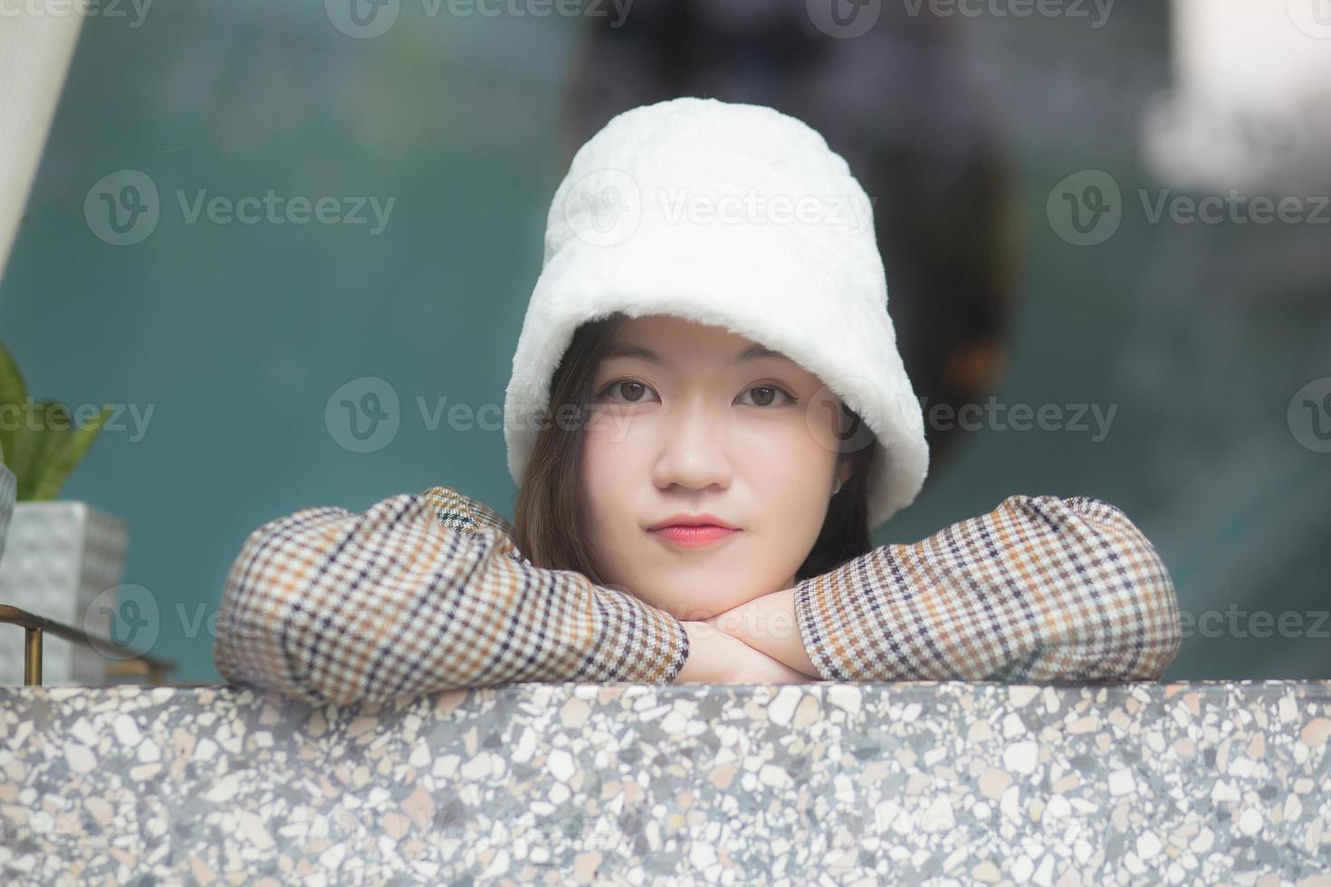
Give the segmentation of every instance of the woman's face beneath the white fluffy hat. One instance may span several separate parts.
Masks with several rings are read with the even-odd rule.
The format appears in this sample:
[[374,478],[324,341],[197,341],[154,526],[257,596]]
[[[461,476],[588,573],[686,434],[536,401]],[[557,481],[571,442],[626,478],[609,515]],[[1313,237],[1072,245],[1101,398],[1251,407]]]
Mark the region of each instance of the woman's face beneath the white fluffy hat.
[[[606,581],[683,620],[791,588],[849,469],[828,445],[837,406],[816,375],[724,327],[624,322],[595,371],[582,465]],[[652,529],[677,515],[736,531]]]

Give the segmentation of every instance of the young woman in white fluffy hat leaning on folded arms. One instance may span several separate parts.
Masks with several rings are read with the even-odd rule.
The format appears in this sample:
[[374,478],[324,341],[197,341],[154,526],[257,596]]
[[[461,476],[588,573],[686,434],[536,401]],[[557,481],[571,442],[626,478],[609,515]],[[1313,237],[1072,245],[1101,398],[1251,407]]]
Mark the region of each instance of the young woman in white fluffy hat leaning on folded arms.
[[1158,678],[1174,588],[1111,505],[1012,496],[872,547],[928,448],[868,209],[771,108],[676,98],[610,121],[555,194],[514,356],[515,527],[449,487],[270,521],[228,577],[218,670],[337,703],[519,681]]

